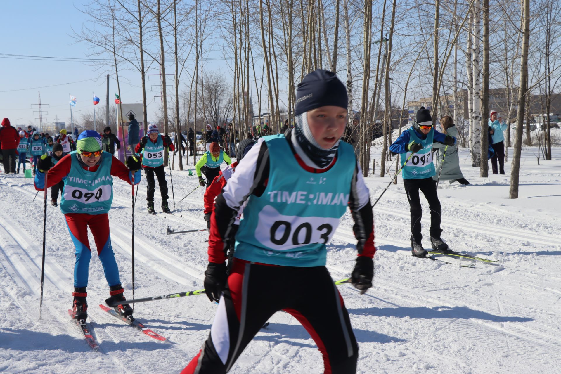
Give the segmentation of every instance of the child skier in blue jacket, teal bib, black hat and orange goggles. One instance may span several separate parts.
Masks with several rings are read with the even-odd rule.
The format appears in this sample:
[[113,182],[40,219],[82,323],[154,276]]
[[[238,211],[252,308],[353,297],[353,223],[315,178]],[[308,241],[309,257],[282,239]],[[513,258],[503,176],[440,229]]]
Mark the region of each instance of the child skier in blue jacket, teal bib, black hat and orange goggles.
[[433,164],[433,143],[456,144],[456,138],[444,135],[434,129],[430,110],[421,107],[417,111],[413,126],[403,131],[392,145],[390,152],[399,154],[403,167],[403,184],[411,207],[411,253],[416,257],[426,257],[427,251],[421,245],[422,208],[419,190],[425,195],[430,207],[430,242],[434,250],[448,251],[440,234],[440,214],[442,208],[436,193],[436,174]]

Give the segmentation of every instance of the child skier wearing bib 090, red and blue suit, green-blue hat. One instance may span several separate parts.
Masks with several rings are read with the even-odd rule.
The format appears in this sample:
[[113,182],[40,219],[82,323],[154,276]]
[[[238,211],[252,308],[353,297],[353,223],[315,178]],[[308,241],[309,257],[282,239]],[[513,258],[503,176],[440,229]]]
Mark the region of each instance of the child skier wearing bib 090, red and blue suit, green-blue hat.
[[[113,177],[132,184],[134,173],[134,181],[137,184],[141,179],[141,164],[140,160],[129,156],[125,166],[113,155],[104,152],[102,139],[93,130],[82,132],[76,143],[76,151],[64,156],[54,166],[51,156],[47,154],[41,156],[35,174],[35,190],[43,191],[44,188],[55,186],[66,178],[60,206],[76,251],[72,318],[86,320],[88,317],[86,287],[88,287],[88,269],[91,259],[88,227],[94,237],[99,260],[102,262],[105,279],[109,285],[111,296],[109,299],[125,300],[119,280],[119,269],[111,246],[107,213],[113,202]],[[47,172],[47,186],[45,186],[45,172]],[[132,308],[128,304],[119,304],[115,310],[122,316],[132,318]]]

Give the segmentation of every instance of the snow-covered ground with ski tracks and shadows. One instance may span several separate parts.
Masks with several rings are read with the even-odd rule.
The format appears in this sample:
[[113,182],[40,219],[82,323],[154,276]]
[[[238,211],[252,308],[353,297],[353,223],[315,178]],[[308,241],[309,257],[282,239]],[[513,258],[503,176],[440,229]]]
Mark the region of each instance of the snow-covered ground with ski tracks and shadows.
[[[359,373],[560,371],[561,149],[553,152],[553,161],[537,165],[537,150],[523,151],[516,200],[508,198],[510,163],[505,176],[480,178],[466,150],[460,152],[461,164],[472,185],[440,183],[445,241],[499,265],[477,262],[471,269],[412,257],[401,178],[390,186],[374,209],[379,248],[374,287],[360,295],[351,285],[339,286],[360,348]],[[186,170],[172,173],[179,201],[197,179]],[[367,183],[374,201],[389,177],[369,177]],[[202,189],[177,204],[174,215],[149,215],[145,186],[142,181],[135,210],[136,297],[203,288],[207,234],[165,234],[167,226],[206,227]],[[151,339],[98,307],[108,287],[94,251],[88,287],[89,320],[100,343],[94,352],[67,315],[73,245],[63,215],[50,205],[39,321],[43,198],[40,193],[33,201],[34,195],[33,182],[22,174],[0,174],[0,372],[180,372],[209,334],[216,305],[205,295],[136,304],[136,318],[168,341]],[[127,297],[132,288],[130,195],[130,186],[115,179],[109,218]],[[158,188],[156,197],[158,211]],[[427,234],[426,204],[424,209]],[[354,243],[347,213],[328,246],[333,279],[349,276]],[[427,236],[424,244],[430,246]],[[306,287],[295,291],[313,292]],[[314,374],[323,372],[323,362],[304,328],[287,313],[277,313],[231,372]]]

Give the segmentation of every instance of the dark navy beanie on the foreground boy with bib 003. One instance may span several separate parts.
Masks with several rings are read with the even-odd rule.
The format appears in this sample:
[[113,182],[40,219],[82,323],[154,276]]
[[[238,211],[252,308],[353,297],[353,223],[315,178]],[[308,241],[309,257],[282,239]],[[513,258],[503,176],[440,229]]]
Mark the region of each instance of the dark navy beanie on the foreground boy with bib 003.
[[347,89],[335,73],[318,69],[298,84],[295,115],[326,105],[347,109]]

